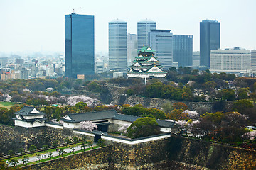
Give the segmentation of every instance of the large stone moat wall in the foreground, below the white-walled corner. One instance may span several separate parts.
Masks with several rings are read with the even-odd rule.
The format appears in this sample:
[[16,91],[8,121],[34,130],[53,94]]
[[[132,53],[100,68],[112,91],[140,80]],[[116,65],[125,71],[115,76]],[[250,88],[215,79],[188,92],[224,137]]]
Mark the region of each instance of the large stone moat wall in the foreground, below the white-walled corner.
[[172,136],[138,145],[100,149],[27,166],[25,169],[256,169],[256,151]]

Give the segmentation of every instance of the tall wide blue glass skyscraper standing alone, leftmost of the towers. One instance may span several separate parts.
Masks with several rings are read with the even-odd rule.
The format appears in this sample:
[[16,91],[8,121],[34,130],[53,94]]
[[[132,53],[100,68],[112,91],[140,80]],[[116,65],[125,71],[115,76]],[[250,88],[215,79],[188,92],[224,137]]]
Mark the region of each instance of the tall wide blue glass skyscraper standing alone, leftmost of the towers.
[[94,74],[94,16],[65,15],[65,77]]

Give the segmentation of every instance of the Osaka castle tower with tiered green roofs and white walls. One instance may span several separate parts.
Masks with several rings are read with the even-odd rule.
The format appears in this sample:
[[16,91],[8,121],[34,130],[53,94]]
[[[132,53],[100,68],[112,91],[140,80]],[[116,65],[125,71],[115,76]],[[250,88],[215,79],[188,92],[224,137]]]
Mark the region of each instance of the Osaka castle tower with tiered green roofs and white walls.
[[132,66],[129,67],[127,72],[128,77],[137,78],[164,78],[166,72],[163,71],[159,60],[154,56],[155,50],[152,50],[149,46],[142,47],[138,50],[138,57],[132,62]]

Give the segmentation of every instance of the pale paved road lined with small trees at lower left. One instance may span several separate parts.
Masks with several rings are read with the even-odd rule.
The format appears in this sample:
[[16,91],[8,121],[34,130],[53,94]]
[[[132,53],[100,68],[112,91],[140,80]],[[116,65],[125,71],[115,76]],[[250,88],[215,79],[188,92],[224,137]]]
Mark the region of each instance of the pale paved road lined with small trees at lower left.
[[[95,146],[96,145],[96,143],[94,143],[92,146]],[[75,151],[78,151],[78,150],[80,150],[81,149],[81,147],[80,147],[81,145],[78,145],[77,147],[75,147]],[[86,148],[88,148],[88,146],[86,146],[85,147],[85,149]],[[82,148],[83,149],[83,148]],[[71,148],[66,148],[66,149],[63,149],[65,152],[67,152],[67,153],[70,153],[70,152],[72,152],[72,149]],[[55,156],[58,156],[59,155],[59,153],[58,153],[58,151],[54,151],[53,152],[53,155],[52,155],[52,157],[55,157]],[[41,160],[43,160],[43,159],[47,159],[48,158],[48,154],[47,153],[45,153],[45,154],[41,154],[41,159],[40,159],[40,162],[41,162]],[[28,158],[28,162],[35,162],[35,161],[38,161],[38,156],[33,156],[33,157],[29,157]],[[27,163],[28,163],[27,162]],[[23,161],[22,161],[22,159],[18,159],[18,164],[23,164]],[[9,164],[9,166],[11,166],[10,164]]]

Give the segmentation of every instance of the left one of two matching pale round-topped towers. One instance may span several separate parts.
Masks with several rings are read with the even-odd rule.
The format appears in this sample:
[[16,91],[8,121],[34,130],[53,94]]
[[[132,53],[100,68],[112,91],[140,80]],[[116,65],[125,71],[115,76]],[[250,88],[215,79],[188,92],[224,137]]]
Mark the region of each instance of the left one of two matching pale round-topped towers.
[[110,69],[127,69],[127,22],[115,20],[109,23]]

